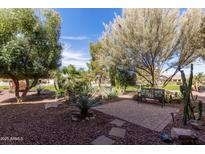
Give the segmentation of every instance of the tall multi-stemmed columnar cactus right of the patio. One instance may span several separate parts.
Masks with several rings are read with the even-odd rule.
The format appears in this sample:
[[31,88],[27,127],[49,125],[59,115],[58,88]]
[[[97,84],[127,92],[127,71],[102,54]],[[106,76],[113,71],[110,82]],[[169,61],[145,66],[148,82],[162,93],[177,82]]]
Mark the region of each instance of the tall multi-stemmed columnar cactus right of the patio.
[[193,82],[193,64],[191,64],[191,72],[189,80],[187,81],[184,71],[179,69],[181,72],[181,78],[182,78],[182,86],[180,86],[180,91],[183,96],[183,102],[184,102],[184,114],[183,114],[183,122],[184,125],[187,124],[187,121],[191,118],[195,119],[193,107],[191,106],[191,94],[192,94],[192,82]]

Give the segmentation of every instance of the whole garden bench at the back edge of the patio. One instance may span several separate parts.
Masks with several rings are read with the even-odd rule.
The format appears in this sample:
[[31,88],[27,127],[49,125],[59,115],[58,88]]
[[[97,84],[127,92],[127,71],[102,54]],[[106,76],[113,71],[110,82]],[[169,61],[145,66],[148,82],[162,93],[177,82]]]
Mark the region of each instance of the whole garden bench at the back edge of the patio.
[[164,89],[156,89],[156,88],[142,88],[140,92],[138,92],[139,101],[138,103],[142,102],[143,99],[150,98],[156,99],[161,103],[162,107],[164,106],[164,96],[165,90]]

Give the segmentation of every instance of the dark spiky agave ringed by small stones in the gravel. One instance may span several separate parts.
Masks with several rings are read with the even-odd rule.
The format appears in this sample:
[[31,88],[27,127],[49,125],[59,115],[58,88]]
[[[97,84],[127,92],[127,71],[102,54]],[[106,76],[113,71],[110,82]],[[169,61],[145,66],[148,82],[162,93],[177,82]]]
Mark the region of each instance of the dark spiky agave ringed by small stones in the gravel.
[[80,109],[81,118],[84,119],[88,116],[90,108],[97,106],[99,99],[92,95],[81,95],[76,103],[76,106]]

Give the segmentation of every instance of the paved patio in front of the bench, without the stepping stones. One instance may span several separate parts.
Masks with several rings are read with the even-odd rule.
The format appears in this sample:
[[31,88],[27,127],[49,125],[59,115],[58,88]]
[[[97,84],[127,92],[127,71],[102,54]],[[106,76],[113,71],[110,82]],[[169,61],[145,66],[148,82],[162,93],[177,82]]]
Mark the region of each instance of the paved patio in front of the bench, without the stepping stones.
[[95,107],[96,110],[109,114],[139,126],[155,131],[162,131],[172,120],[171,113],[177,108],[158,104],[137,103],[134,100],[122,100]]

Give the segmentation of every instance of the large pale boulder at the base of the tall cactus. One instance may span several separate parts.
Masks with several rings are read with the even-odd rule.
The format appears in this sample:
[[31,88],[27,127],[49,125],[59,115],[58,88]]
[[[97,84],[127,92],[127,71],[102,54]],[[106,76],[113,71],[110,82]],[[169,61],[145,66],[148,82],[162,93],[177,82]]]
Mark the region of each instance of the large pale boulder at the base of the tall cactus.
[[190,129],[172,128],[171,129],[171,137],[173,139],[187,138],[187,137],[195,139],[196,135]]

